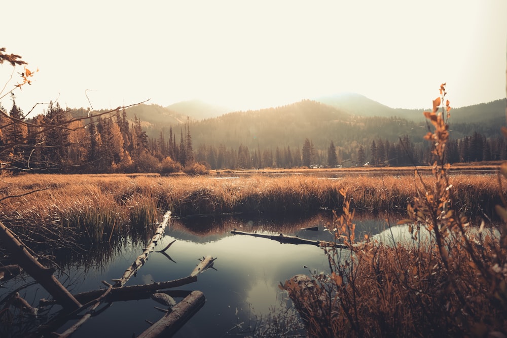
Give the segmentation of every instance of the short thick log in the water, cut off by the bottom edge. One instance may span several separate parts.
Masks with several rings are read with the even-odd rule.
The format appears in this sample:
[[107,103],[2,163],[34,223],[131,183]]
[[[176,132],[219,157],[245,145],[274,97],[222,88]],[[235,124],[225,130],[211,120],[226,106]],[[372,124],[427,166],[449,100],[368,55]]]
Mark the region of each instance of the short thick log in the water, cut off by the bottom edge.
[[137,338],[170,337],[199,311],[206,302],[204,293],[192,291],[181,302],[172,307],[160,320],[142,332]]

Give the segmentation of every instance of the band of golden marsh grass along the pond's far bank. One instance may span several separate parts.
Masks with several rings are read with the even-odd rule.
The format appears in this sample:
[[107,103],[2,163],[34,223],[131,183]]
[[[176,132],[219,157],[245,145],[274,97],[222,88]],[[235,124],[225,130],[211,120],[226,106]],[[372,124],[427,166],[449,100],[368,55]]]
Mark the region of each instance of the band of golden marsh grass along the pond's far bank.
[[[424,179],[430,180],[431,177]],[[498,185],[488,175],[451,177],[456,200],[470,214],[492,217]],[[267,217],[304,216],[343,204],[345,189],[351,208],[379,214],[406,210],[414,176],[346,176],[322,179],[309,175],[237,179],[208,176],[44,175],[3,178],[3,217],[15,227],[60,228],[83,244],[110,242],[125,231],[149,233],[160,210],[175,217],[243,213]],[[505,188],[503,193],[505,193]]]

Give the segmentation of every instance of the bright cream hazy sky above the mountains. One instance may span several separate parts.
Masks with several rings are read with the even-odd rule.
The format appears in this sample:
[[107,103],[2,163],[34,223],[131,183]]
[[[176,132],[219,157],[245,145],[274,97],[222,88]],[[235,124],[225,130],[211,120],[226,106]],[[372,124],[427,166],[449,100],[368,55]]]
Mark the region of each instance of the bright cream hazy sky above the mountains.
[[[86,90],[95,109],[201,99],[244,110],[340,92],[422,108],[442,82],[451,106],[505,97],[505,0],[20,0],[0,8],[0,47],[40,69],[16,91],[25,112],[49,100],[89,107]],[[0,66],[0,88],[11,72]]]

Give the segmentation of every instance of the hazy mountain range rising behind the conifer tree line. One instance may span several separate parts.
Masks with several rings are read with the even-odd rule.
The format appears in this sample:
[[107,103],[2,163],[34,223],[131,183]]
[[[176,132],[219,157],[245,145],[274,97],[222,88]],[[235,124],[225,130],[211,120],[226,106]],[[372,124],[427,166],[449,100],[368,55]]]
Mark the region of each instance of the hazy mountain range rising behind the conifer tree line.
[[[158,138],[162,130],[168,136],[170,127],[178,136],[188,117],[196,145],[298,147],[309,138],[320,149],[331,140],[346,148],[348,142],[369,144],[379,137],[396,141],[401,135],[421,142],[427,131],[422,112],[423,109],[391,108],[359,94],[233,112],[198,100],[168,107],[141,104],[127,109],[129,119],[133,121],[135,115],[152,138]],[[452,138],[474,132],[486,137],[499,136],[501,125],[505,125],[505,99],[451,110]]]

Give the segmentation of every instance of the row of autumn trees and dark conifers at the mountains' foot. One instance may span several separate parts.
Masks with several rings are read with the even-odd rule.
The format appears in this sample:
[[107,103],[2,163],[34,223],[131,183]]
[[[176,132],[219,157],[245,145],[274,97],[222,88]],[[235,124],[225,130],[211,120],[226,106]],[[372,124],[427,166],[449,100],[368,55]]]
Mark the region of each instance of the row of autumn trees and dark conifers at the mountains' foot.
[[[0,109],[6,111],[0,104]],[[179,135],[172,125],[158,138],[148,137],[142,122],[127,117],[125,109],[93,117],[89,109],[63,109],[51,102],[44,114],[25,119],[12,98],[10,118],[0,116],[0,147],[15,144],[0,154],[2,168],[12,171],[61,173],[131,173],[186,171],[205,173],[209,169],[299,168],[362,166],[410,166],[432,162],[431,149],[424,142],[412,142],[409,135],[397,141],[376,138],[369,144],[353,141],[317,148],[310,138],[299,146],[237,147],[209,143],[192,144],[190,121],[180,125]],[[89,116],[86,122],[67,121]],[[43,132],[42,126],[55,125]],[[447,143],[446,161],[480,162],[507,159],[503,137],[485,137],[477,132]]]

